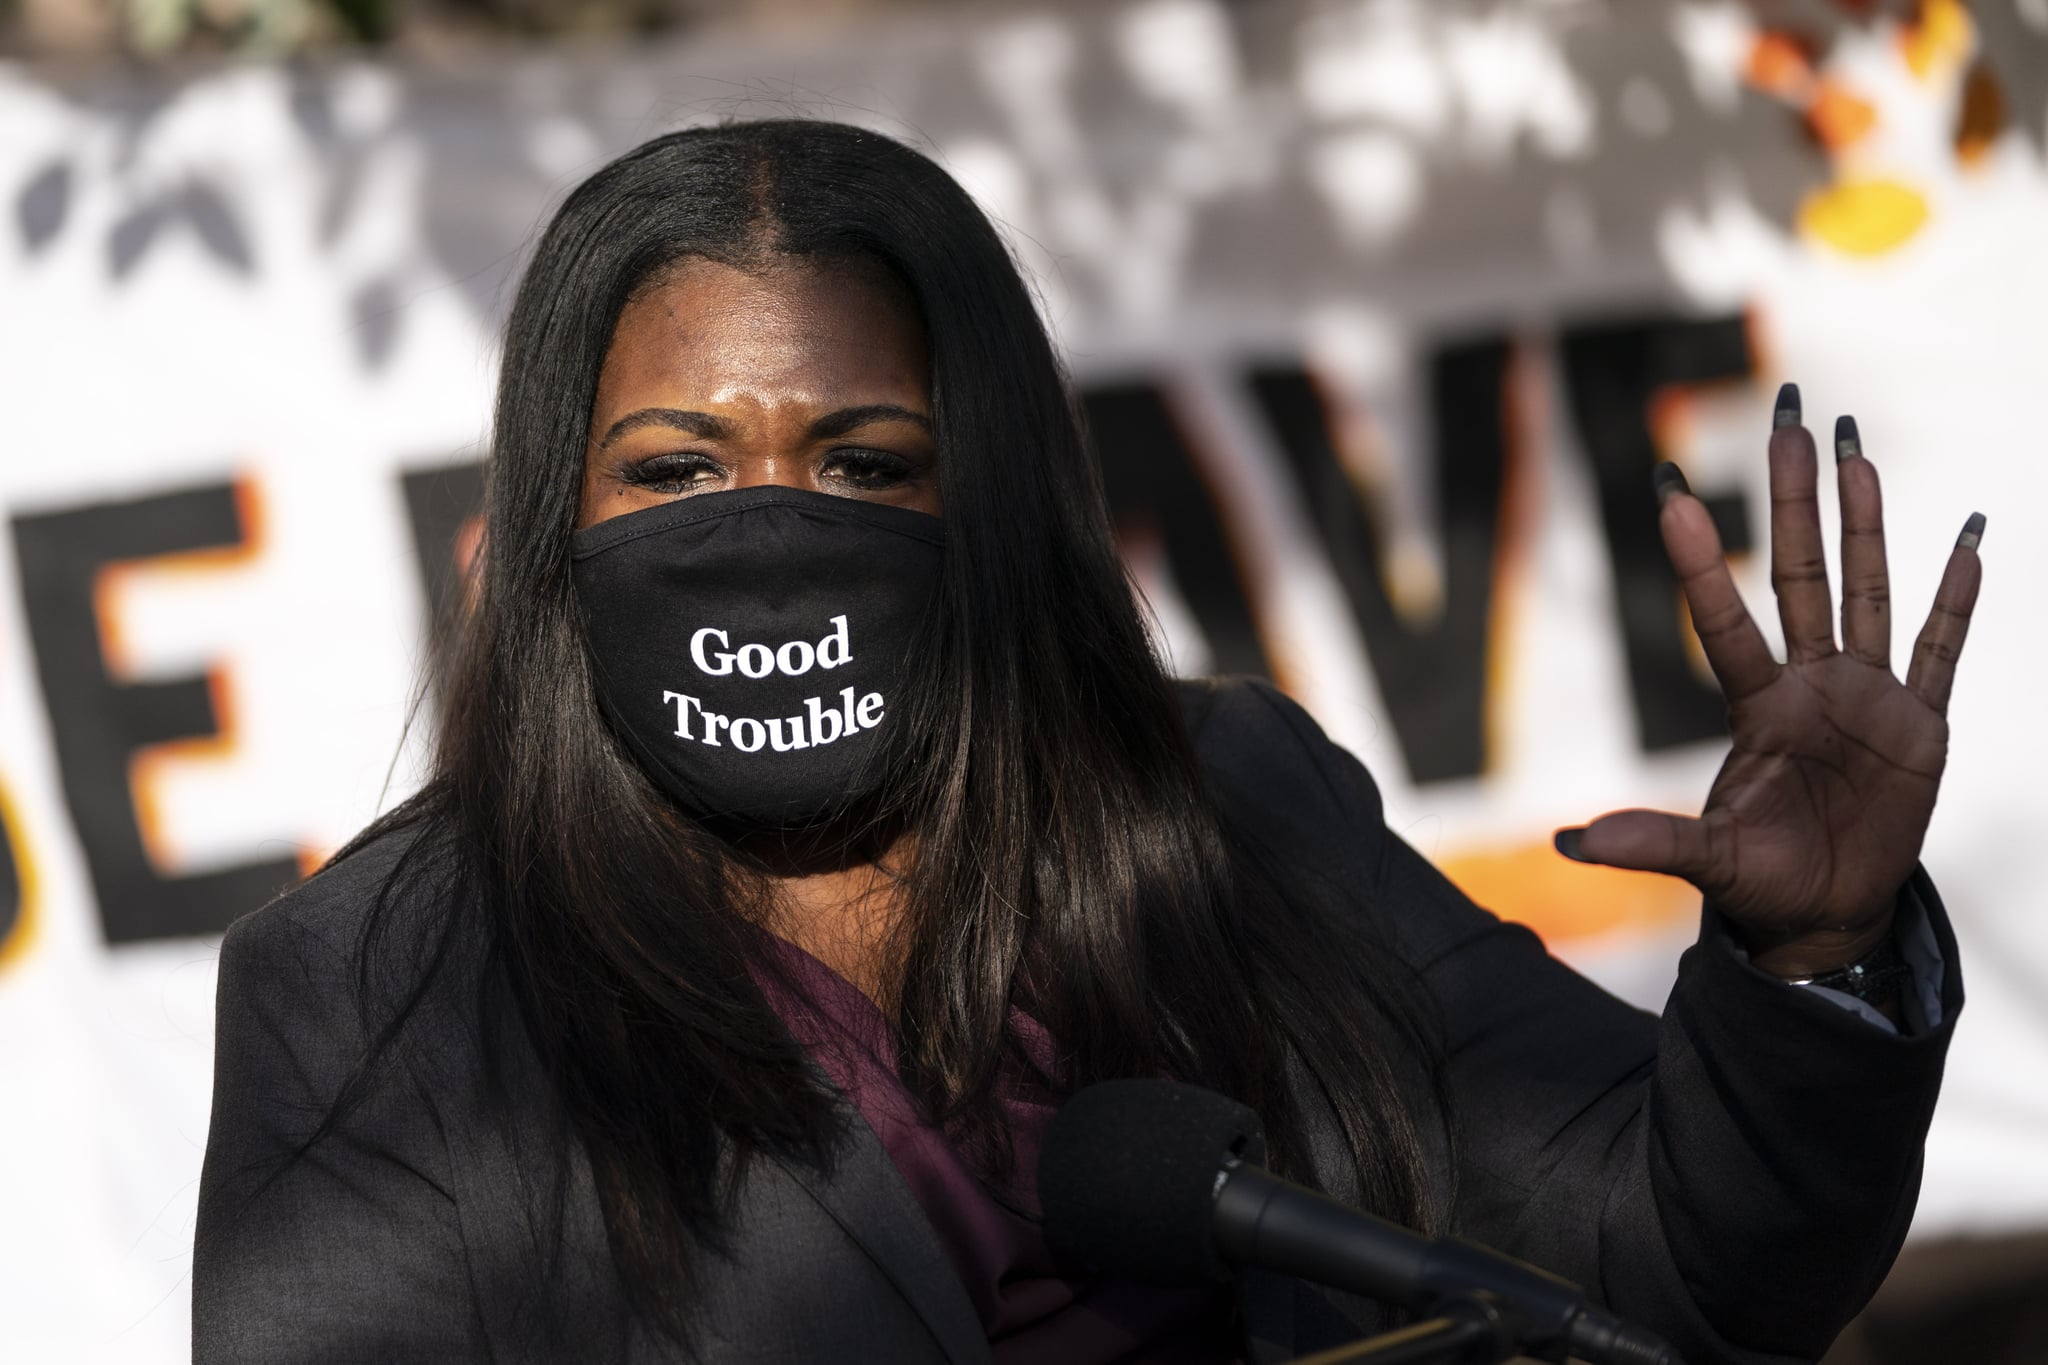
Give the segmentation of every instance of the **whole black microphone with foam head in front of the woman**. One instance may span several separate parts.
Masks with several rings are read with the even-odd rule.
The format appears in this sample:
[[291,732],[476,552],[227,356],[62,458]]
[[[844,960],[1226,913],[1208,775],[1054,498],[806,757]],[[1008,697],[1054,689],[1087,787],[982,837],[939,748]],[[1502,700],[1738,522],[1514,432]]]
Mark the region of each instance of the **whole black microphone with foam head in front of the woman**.
[[1483,1295],[1530,1353],[1591,1365],[1679,1365],[1661,1340],[1534,1265],[1427,1238],[1262,1169],[1260,1117],[1176,1081],[1104,1081],[1053,1117],[1038,1150],[1044,1234],[1063,1265],[1153,1285],[1260,1267],[1407,1310]]

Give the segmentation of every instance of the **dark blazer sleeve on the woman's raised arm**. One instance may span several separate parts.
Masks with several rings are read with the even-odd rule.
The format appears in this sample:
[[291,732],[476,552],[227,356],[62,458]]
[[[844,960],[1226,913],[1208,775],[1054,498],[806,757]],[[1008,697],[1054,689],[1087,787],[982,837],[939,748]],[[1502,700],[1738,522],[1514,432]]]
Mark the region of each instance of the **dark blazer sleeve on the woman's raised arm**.
[[1962,1007],[1925,872],[1901,888],[1944,962],[1942,1013],[1901,1036],[1751,968],[1702,913],[1663,1017],[1473,905],[1382,819],[1366,769],[1257,688],[1321,776],[1364,911],[1440,1001],[1458,1224],[1595,1291],[1692,1363],[1810,1361],[1876,1291],[1919,1193]]

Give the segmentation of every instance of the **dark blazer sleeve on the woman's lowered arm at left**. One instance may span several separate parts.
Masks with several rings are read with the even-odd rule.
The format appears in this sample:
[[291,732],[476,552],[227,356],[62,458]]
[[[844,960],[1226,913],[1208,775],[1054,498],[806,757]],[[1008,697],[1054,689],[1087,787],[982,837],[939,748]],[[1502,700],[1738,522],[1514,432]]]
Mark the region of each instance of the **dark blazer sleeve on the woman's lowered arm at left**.
[[395,1050],[305,1146],[369,1027],[348,962],[287,909],[242,919],[221,945],[193,1361],[487,1359],[446,1148]]

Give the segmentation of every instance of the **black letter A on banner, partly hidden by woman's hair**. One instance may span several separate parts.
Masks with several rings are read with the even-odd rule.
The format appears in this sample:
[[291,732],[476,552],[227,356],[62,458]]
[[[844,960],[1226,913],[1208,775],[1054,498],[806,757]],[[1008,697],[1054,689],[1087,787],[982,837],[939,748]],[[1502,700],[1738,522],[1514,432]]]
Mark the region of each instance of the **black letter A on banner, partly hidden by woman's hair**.
[[1081,411],[1118,538],[1135,530],[1159,538],[1217,673],[1268,677],[1272,669],[1229,534],[1165,395],[1149,383],[1087,389]]

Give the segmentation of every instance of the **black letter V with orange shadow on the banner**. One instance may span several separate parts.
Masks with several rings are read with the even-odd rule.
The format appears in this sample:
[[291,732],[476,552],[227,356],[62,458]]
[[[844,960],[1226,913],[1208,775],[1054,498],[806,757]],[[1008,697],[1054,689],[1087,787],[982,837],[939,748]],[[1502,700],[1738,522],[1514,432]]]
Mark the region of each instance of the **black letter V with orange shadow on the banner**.
[[1274,436],[1300,483],[1415,782],[1470,778],[1485,763],[1487,618],[1499,538],[1507,422],[1505,340],[1448,346],[1430,358],[1436,505],[1444,534],[1444,608],[1427,626],[1401,620],[1380,577],[1382,548],[1358,485],[1331,444],[1329,413],[1298,368],[1251,372]]

